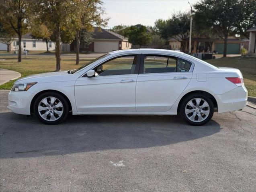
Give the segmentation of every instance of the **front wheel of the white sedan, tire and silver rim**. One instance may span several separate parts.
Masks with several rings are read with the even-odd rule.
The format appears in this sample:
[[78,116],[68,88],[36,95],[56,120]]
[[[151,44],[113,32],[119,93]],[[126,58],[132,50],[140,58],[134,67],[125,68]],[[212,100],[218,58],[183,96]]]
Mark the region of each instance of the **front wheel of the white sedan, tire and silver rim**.
[[57,124],[68,116],[68,102],[56,92],[45,92],[36,98],[34,112],[45,124]]

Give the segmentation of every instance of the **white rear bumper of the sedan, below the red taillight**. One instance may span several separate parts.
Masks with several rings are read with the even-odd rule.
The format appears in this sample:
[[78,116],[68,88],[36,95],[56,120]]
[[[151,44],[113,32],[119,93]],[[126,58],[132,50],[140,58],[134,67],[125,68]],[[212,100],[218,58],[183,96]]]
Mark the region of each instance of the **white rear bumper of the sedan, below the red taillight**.
[[221,95],[215,95],[218,113],[230,112],[245,108],[248,91],[245,86],[239,86]]

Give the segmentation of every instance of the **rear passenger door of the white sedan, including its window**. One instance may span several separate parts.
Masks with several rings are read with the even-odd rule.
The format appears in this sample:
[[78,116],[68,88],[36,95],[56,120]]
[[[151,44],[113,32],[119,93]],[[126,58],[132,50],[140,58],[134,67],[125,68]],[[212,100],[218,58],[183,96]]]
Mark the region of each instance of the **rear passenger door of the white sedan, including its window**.
[[192,63],[164,55],[141,55],[136,85],[137,112],[166,112],[188,85]]

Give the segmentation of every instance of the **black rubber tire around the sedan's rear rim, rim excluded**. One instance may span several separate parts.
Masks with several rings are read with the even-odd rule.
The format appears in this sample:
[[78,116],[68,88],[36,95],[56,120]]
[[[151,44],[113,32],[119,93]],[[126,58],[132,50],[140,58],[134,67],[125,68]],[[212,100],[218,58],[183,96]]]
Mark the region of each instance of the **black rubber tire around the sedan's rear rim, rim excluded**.
[[[203,100],[205,100],[208,104],[209,104],[209,114],[208,116],[205,118],[205,120],[201,121],[201,122],[194,122],[192,120],[190,120],[185,113],[185,108],[186,108],[186,104],[192,100],[193,98],[201,98]],[[179,110],[179,114],[180,116],[186,120],[186,122],[188,122],[191,125],[194,126],[200,126],[203,124],[206,124],[209,120],[211,120],[212,116],[213,116],[213,112],[214,112],[214,105],[212,100],[207,97],[205,94],[200,94],[200,93],[193,93],[193,94],[189,94],[187,95],[185,98],[182,99],[181,103],[180,103],[180,110]]]

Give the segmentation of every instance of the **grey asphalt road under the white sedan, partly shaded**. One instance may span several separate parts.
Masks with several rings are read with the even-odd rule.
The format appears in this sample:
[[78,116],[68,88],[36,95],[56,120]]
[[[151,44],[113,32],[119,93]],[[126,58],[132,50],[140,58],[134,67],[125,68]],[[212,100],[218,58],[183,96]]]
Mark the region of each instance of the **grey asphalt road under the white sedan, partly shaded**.
[[256,110],[177,116],[69,116],[44,125],[6,109],[0,91],[1,192],[254,192]]

